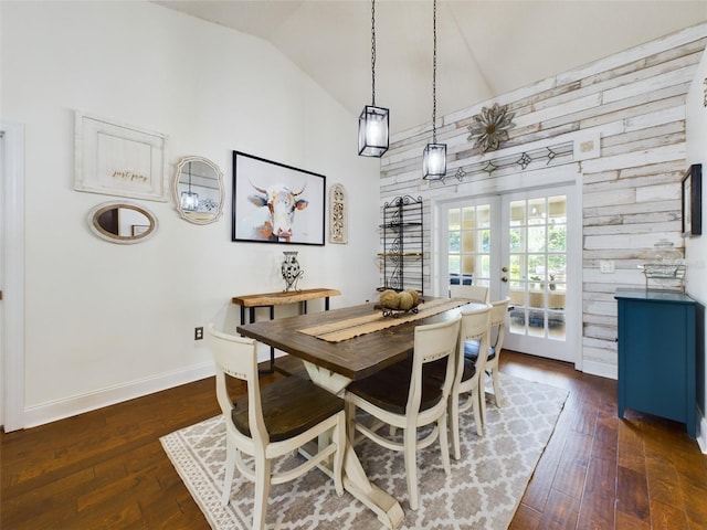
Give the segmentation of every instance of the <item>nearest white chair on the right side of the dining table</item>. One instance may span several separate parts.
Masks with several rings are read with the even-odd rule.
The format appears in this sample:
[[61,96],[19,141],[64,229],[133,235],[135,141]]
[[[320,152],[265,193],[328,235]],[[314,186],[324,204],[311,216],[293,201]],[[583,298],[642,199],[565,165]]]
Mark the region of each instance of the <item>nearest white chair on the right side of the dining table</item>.
[[[351,444],[356,443],[355,433],[359,432],[382,447],[404,454],[410,508],[413,510],[420,506],[418,451],[439,439],[444,470],[451,473],[446,409],[454,377],[460,321],[457,316],[445,322],[416,326],[411,362],[403,361],[354,381],[346,391]],[[443,381],[431,383],[423,380],[423,365],[432,362],[444,365]],[[373,422],[365,425],[356,416],[357,409],[370,414]],[[378,431],[387,425],[388,435],[379,434]],[[425,425],[434,426],[418,439],[418,430]],[[390,436],[398,428],[403,431],[402,442]]]

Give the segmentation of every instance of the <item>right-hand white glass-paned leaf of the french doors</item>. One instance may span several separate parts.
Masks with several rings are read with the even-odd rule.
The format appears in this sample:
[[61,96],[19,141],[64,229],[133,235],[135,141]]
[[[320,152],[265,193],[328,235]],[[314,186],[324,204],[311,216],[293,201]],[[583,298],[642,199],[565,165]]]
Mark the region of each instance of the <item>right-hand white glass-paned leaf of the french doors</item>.
[[570,188],[510,193],[502,201],[502,295],[510,297],[504,347],[562,361],[576,359],[579,303]]

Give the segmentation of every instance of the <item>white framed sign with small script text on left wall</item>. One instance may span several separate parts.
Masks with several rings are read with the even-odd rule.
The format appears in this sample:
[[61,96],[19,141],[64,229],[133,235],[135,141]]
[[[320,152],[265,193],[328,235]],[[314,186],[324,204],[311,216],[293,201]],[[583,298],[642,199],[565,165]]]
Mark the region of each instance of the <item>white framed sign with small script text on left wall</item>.
[[74,189],[167,201],[167,136],[75,112]]

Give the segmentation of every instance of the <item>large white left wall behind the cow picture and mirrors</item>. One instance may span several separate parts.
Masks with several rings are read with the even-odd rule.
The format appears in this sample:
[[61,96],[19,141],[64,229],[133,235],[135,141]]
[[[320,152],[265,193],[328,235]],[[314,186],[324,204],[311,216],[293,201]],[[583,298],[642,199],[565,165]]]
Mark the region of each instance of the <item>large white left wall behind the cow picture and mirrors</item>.
[[[300,287],[340,289],[331,307],[371,297],[378,160],[357,156],[356,117],[272,45],[148,2],[3,1],[1,14],[0,108],[25,131],[28,425],[211,373],[194,327],[234,328],[231,296],[284,287],[283,245],[231,242],[233,150],[344,183],[349,243],[296,246]],[[118,198],[73,190],[74,109],[167,134],[170,184],[181,157],[211,159],[224,215],[200,226],[171,197],[137,201],[155,237],[97,239],[87,212]]]

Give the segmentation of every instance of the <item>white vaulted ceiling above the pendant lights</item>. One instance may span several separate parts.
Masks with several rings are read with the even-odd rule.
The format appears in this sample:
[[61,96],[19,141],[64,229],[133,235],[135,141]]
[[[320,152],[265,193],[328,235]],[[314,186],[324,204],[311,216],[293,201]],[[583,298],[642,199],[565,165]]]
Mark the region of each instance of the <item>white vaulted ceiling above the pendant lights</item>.
[[[367,0],[159,0],[271,42],[352,114],[371,103]],[[707,21],[707,0],[439,0],[437,116]],[[376,2],[376,103],[432,119],[432,0]]]

